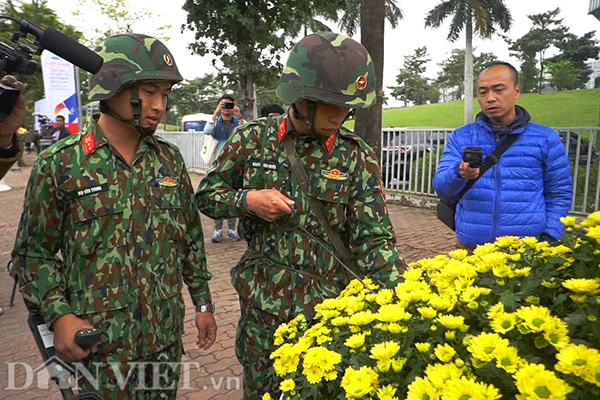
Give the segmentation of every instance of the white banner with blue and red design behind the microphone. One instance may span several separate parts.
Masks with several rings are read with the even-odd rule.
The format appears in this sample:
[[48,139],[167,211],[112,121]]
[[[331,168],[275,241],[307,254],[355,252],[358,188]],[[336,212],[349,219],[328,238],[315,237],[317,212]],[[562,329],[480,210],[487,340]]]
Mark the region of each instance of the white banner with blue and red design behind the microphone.
[[56,117],[65,117],[71,133],[79,131],[77,93],[75,92],[75,67],[48,50],[42,52],[42,76],[46,94],[48,118],[53,124]]

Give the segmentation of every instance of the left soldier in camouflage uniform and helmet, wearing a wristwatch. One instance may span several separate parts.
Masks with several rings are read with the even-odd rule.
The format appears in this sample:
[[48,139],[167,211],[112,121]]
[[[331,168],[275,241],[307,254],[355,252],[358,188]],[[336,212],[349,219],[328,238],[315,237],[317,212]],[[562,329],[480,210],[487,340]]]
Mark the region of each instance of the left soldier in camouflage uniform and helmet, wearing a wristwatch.
[[[60,357],[83,360],[94,377],[99,371],[99,387],[84,380],[85,390],[105,399],[175,398],[184,282],[198,345],[209,348],[216,335],[190,177],[179,150],[153,136],[182,77],[149,36],[112,36],[96,51],[104,65],[90,99],[101,114],[40,154],[13,260],[25,302],[53,328]],[[102,331],[91,352],[74,343],[86,327]],[[162,362],[158,370],[139,365],[153,361]]]

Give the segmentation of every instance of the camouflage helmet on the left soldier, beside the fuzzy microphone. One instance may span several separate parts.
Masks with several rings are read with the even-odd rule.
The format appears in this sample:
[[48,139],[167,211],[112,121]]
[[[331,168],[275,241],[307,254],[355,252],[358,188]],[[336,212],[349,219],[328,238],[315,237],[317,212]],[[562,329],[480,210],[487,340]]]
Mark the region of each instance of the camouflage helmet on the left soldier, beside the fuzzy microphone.
[[90,100],[110,99],[136,82],[183,80],[167,46],[153,37],[115,35],[94,50],[104,58],[104,64],[90,80]]

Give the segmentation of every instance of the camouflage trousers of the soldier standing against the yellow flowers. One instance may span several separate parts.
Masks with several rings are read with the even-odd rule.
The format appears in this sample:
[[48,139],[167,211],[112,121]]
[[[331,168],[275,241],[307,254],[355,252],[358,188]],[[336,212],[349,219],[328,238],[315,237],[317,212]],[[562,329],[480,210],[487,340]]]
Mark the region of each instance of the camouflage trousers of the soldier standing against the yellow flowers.
[[240,300],[240,311],[235,354],[244,368],[244,400],[260,400],[267,392],[278,399],[279,381],[269,356],[275,329],[285,321],[244,300]]

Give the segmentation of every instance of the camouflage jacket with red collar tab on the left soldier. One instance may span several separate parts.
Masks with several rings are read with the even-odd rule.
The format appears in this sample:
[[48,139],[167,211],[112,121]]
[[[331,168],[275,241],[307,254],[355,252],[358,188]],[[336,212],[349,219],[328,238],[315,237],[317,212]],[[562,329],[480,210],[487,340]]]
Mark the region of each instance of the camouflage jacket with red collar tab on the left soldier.
[[182,281],[210,302],[200,215],[177,148],[152,137],[129,166],[91,122],[40,154],[13,251],[26,304],[102,330],[134,359],[181,340]]

